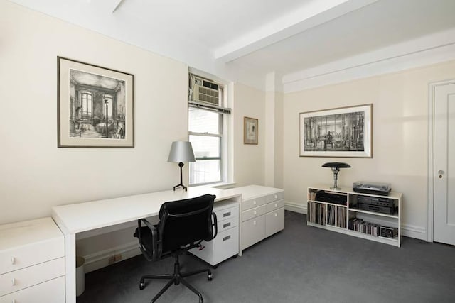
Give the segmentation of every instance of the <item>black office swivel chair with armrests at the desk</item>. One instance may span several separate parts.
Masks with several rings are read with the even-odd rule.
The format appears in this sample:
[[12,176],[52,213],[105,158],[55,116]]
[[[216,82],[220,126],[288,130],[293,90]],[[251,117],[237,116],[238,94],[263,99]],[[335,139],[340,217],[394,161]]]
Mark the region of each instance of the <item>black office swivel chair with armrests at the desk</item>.
[[[151,225],[146,219],[137,221],[138,227],[134,236],[139,239],[139,248],[149,261],[161,260],[167,257],[175,258],[173,274],[144,275],[141,277],[139,289],[144,290],[146,279],[169,279],[170,281],[151,299],[155,302],[172,283],[180,282],[192,290],[203,302],[203,297],[196,288],[186,282],[184,277],[207,272],[208,280],[212,280],[212,272],[206,268],[193,272],[180,272],[178,256],[187,250],[200,247],[202,241],[210,241],[218,233],[216,215],[213,212],[213,202],[216,196],[205,194],[200,197],[180,201],[166,202],[159,211],[159,224]],[[146,226],[141,226],[141,222]]]

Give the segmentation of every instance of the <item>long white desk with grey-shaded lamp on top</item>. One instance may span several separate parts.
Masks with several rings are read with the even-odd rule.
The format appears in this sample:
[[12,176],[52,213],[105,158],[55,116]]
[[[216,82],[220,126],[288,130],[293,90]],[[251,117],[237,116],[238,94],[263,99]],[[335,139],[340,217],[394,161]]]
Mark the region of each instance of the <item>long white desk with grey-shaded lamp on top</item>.
[[[241,194],[231,189],[191,187],[188,188],[188,192],[183,192],[181,189],[176,192],[168,190],[53,207],[52,217],[65,235],[66,303],[76,302],[76,233],[157,216],[164,202],[198,197],[203,194],[215,194],[215,202],[226,199],[237,202],[241,200]],[[240,247],[239,255],[242,255]]]

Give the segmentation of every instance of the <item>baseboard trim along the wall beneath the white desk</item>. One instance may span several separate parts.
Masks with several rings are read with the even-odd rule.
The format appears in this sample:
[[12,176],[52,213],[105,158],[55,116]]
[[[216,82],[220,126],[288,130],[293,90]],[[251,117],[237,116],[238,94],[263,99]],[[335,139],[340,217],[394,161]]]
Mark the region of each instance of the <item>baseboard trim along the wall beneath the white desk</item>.
[[[102,250],[90,255],[82,255],[82,257],[85,258],[85,273],[99,270],[100,268],[105,268],[108,265],[112,265],[121,260],[133,258],[136,255],[140,254],[141,250],[139,249],[138,242],[132,241],[122,246],[116,246],[114,248]],[[114,261],[114,263],[109,263],[109,258],[113,257],[114,255],[122,255],[122,258],[120,260]]]

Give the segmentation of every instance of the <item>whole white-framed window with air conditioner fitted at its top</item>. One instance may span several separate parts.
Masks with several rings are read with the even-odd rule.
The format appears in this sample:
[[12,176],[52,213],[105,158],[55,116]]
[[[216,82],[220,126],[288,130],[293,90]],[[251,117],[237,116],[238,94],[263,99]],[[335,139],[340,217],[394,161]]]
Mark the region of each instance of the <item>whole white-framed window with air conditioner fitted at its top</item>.
[[[193,79],[190,75],[190,94],[192,96]],[[225,124],[230,109],[220,107],[223,104],[223,87],[217,85],[219,104],[204,102],[193,98],[188,101],[188,132],[193,145],[196,162],[190,162],[190,184],[210,184],[223,182],[226,167],[225,150],[227,148]],[[218,105],[218,106],[217,106]]]

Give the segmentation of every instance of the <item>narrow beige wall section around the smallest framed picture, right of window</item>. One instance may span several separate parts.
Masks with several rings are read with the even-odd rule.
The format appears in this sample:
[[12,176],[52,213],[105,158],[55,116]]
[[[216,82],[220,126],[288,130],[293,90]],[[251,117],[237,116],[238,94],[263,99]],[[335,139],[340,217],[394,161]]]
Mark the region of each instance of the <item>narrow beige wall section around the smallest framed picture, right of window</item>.
[[[235,83],[234,86],[234,181],[237,186],[264,185],[265,93]],[[258,119],[257,145],[243,144],[243,117]]]

